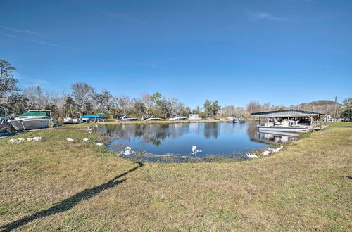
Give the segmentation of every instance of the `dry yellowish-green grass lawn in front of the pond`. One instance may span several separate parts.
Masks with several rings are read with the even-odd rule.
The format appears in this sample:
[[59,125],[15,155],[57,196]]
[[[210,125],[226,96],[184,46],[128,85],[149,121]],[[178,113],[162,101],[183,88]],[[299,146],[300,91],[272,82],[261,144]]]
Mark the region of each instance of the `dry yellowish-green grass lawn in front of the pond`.
[[2,230],[352,230],[351,123],[244,162],[133,163],[75,129],[14,138],[33,136],[0,140]]

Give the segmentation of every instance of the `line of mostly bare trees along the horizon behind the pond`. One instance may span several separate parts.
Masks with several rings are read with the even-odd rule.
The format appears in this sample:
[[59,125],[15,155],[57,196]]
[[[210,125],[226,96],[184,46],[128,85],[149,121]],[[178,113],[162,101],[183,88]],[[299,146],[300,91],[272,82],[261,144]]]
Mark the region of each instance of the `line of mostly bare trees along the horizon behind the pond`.
[[[8,108],[9,113],[20,115],[27,110],[51,110],[54,117],[63,118],[68,112],[81,112],[83,115],[103,112],[107,117],[116,118],[118,115],[132,115],[134,117],[145,117],[154,115],[167,119],[170,115],[188,117],[190,114],[198,114],[203,118],[222,118],[236,115],[237,117],[250,117],[252,112],[263,112],[269,110],[285,110],[296,108],[315,112],[326,112],[325,101],[308,105],[271,105],[260,104],[258,101],[250,101],[246,107],[234,107],[227,105],[221,107],[218,101],[204,101],[202,106],[194,109],[184,105],[177,98],[167,98],[160,92],[153,94],[140,94],[139,98],[129,96],[113,96],[108,90],[96,91],[85,82],[77,82],[70,86],[70,91],[52,93],[45,91],[41,86],[30,84],[25,89],[20,89],[16,84],[18,80],[13,76],[15,67],[6,60],[0,60],[0,105]],[[346,117],[352,115],[352,98],[344,101],[343,105],[332,105],[329,101],[329,112],[338,110]],[[327,105],[327,103],[326,103]],[[330,113],[331,114],[331,113]],[[331,114],[333,115],[333,114]]]

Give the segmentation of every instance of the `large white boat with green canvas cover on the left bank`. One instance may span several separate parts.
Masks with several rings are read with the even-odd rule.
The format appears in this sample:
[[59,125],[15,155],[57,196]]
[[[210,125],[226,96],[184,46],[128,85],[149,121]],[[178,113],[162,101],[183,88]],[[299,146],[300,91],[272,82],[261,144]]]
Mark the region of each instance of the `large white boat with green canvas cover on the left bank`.
[[[18,131],[29,129],[40,129],[49,127],[49,120],[51,120],[51,110],[28,110],[28,112],[15,117],[14,120],[8,120]],[[53,119],[54,126],[56,120]]]

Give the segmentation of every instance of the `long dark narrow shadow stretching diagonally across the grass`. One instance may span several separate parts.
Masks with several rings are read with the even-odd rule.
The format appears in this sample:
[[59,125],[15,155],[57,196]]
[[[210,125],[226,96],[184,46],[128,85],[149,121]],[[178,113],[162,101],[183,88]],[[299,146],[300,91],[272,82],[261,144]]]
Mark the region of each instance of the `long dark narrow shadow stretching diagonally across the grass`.
[[35,219],[47,217],[47,216],[57,214],[60,212],[65,212],[66,210],[70,210],[70,208],[77,205],[81,200],[86,200],[86,199],[92,198],[95,195],[101,193],[101,191],[104,191],[108,188],[113,188],[115,186],[118,186],[120,183],[124,182],[126,179],[122,179],[120,181],[118,181],[117,179],[129,174],[130,172],[134,172],[139,167],[144,166],[144,164],[142,164],[142,162],[137,162],[137,164],[138,164],[137,167],[134,167],[134,168],[128,170],[127,172],[124,172],[118,176],[115,176],[113,179],[111,179],[111,181],[103,183],[100,186],[96,186],[94,188],[86,189],[80,193],[76,193],[72,197],[67,198],[61,202],[58,202],[56,205],[49,208],[48,210],[42,210],[42,211],[36,212],[30,216],[23,217],[22,219],[19,219],[17,221],[13,221],[9,224],[1,226],[0,229],[1,229],[1,231],[11,231],[13,229],[19,228],[20,226],[24,226],[25,224],[28,224]]

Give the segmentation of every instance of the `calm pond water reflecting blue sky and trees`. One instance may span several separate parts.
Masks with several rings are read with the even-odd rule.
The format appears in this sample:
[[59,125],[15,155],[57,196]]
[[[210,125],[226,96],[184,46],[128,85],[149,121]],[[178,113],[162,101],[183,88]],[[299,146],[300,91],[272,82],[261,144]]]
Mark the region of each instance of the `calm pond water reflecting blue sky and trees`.
[[[191,147],[202,150],[196,157],[208,155],[237,155],[267,148],[271,142],[285,142],[291,136],[258,133],[255,122],[232,123],[172,123],[118,124],[99,127],[108,138],[108,148],[122,150],[130,146],[134,151],[153,155],[191,156]],[[194,155],[193,155],[194,156]]]

